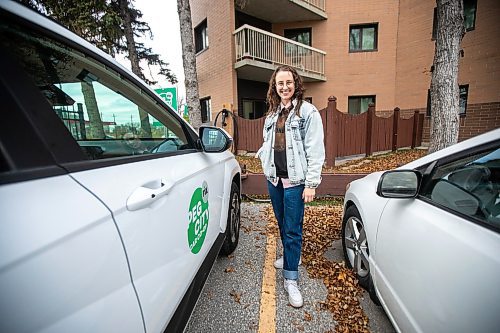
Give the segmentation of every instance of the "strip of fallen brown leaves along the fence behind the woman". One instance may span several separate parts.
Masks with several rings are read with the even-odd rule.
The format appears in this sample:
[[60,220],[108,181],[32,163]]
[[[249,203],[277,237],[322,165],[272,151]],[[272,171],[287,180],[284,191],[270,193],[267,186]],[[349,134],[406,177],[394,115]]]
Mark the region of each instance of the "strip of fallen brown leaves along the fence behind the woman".
[[[324,167],[324,173],[371,173],[397,168],[427,154],[425,149],[406,149],[377,156],[357,158],[335,167]],[[240,165],[250,173],[262,173],[260,160],[248,156],[236,156]]]

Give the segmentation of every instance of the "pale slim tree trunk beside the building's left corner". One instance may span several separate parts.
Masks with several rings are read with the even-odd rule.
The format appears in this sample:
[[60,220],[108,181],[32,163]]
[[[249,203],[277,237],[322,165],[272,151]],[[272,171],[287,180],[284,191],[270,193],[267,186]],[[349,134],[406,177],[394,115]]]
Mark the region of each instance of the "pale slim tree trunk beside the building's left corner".
[[186,85],[186,104],[191,125],[198,130],[201,126],[201,106],[196,74],[196,54],[193,41],[193,24],[189,0],[177,0],[177,13],[182,42],[182,60]]

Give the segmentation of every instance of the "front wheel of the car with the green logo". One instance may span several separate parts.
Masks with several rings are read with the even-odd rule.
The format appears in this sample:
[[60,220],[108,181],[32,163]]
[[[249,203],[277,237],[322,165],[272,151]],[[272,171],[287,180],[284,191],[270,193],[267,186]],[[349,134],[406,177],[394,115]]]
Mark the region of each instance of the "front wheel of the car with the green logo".
[[226,239],[222,244],[221,253],[228,255],[233,253],[238,246],[240,237],[240,189],[236,183],[231,184],[231,195],[229,197],[229,210],[227,214]]

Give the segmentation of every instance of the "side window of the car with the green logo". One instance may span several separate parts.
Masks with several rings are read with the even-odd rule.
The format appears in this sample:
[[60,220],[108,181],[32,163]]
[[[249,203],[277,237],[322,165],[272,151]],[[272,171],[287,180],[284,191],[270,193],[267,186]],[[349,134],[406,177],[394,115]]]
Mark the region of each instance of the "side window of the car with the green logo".
[[179,119],[106,64],[8,22],[0,36],[89,159],[194,148]]

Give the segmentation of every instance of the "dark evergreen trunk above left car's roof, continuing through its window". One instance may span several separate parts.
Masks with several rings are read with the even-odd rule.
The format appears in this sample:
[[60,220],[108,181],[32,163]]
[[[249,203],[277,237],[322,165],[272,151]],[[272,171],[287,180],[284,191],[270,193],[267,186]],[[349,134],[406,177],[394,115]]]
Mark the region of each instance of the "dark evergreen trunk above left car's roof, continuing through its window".
[[[144,79],[144,75],[139,65],[139,56],[135,47],[134,29],[132,28],[132,18],[130,17],[129,2],[128,0],[119,0],[120,2],[120,15],[123,20],[123,30],[125,39],[127,41],[128,57],[132,66],[132,72],[138,77]],[[138,107],[139,119],[141,121],[141,137],[152,137],[151,125],[149,123],[149,115],[142,108]]]

